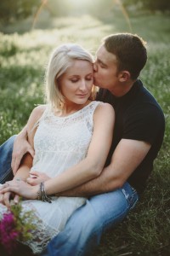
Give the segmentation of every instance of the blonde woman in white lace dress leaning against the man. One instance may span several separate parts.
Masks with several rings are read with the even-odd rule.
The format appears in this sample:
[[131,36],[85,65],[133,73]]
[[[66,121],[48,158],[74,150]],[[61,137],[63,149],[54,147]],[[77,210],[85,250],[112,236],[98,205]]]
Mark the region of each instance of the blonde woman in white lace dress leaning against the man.
[[[90,100],[93,82],[93,57],[85,49],[77,44],[54,49],[46,72],[47,104],[35,108],[27,124],[34,159],[26,154],[14,180],[2,185],[0,218],[9,207],[5,198],[12,193],[27,199],[23,211],[34,212],[37,230],[26,241],[33,253],[41,253],[86,202],[55,195],[98,177],[105,165],[114,110],[108,103]],[[35,171],[48,180],[35,186],[26,183]]]

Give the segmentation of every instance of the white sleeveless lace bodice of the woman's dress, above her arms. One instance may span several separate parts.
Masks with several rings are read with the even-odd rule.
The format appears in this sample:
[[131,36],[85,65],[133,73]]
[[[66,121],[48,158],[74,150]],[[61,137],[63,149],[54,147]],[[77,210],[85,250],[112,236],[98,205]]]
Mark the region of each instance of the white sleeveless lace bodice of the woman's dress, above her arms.
[[99,102],[91,102],[66,117],[46,108],[34,137],[35,158],[31,171],[55,177],[85,158],[94,128],[93,115]]

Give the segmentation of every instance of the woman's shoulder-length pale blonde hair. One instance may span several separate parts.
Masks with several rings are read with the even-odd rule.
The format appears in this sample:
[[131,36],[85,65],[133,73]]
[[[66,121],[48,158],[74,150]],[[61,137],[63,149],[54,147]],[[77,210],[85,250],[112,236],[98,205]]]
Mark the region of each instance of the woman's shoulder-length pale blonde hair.
[[61,108],[65,102],[59,91],[59,77],[74,60],[94,62],[93,56],[79,44],[62,44],[52,52],[46,69],[46,100],[50,108]]

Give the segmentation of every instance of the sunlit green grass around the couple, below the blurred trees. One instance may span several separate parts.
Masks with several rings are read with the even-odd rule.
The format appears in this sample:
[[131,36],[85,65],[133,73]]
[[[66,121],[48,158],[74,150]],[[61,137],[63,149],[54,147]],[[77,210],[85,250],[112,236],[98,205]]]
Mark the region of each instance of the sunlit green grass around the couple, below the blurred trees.
[[[149,60],[141,79],[161,104],[166,133],[144,197],[122,224],[105,233],[92,256],[170,255],[169,22],[169,16],[160,14],[131,17],[132,32],[148,42]],[[44,67],[51,49],[70,41],[94,53],[101,38],[113,32],[129,32],[118,12],[102,20],[84,15],[50,20],[43,30],[42,25],[44,20],[35,30],[26,32],[26,24],[18,23],[3,28],[3,32],[13,33],[0,34],[0,143],[18,133],[35,105],[43,102]]]

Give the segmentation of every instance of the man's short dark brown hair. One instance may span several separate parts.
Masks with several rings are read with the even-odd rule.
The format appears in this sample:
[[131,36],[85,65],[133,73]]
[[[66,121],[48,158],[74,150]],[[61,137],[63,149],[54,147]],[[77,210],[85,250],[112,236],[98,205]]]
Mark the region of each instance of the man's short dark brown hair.
[[104,38],[107,51],[116,55],[118,71],[127,70],[137,79],[147,61],[146,42],[138,35],[117,33]]

